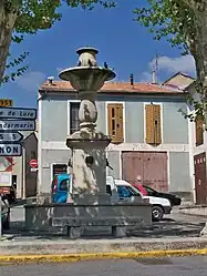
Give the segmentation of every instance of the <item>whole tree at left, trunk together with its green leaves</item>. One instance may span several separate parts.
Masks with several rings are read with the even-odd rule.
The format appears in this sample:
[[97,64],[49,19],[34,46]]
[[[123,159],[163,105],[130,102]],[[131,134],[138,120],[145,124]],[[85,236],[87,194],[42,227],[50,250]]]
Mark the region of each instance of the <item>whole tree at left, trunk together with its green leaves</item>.
[[[106,0],[0,0],[0,84],[10,78],[3,79],[6,68],[20,64],[28,52],[18,59],[9,62],[9,48],[11,42],[20,43],[24,34],[35,34],[39,30],[45,30],[61,20],[59,8],[65,2],[69,7],[81,7],[92,10],[94,4],[102,4],[104,8],[114,7],[113,1]],[[7,65],[6,65],[7,64]],[[11,79],[20,75],[27,70],[25,67],[11,73]]]

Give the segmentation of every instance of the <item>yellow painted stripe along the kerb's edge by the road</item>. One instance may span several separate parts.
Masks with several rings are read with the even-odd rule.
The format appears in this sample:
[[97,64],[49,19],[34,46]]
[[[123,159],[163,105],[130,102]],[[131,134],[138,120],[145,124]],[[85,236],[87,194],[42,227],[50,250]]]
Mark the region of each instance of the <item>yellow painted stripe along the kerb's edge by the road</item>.
[[94,259],[122,259],[143,257],[184,257],[195,255],[207,255],[204,249],[180,249],[180,251],[151,251],[151,252],[126,252],[126,253],[94,253],[94,254],[65,254],[65,255],[10,255],[0,256],[0,265],[24,264],[24,263],[74,263]]

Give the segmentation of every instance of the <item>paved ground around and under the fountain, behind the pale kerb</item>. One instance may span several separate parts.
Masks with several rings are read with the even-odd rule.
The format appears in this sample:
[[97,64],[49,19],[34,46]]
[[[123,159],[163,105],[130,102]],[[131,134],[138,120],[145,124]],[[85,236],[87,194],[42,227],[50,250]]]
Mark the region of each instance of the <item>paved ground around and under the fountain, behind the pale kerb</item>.
[[[10,229],[4,231],[4,234],[11,235],[14,239],[65,239],[66,236],[63,234],[61,228],[49,232],[27,232],[23,221],[23,206],[15,204],[12,208],[13,214],[11,217]],[[17,212],[17,213],[15,213]],[[21,213],[22,212],[22,213]],[[19,217],[17,218],[15,215]],[[145,237],[145,238],[170,238],[170,237],[197,237],[200,231],[205,226],[206,218],[192,217],[186,215],[170,215],[165,217],[161,222],[153,223],[152,226],[145,228],[128,228],[127,236],[130,237]],[[108,227],[100,227],[94,231],[90,228],[84,231],[82,238],[86,239],[99,239],[99,238],[113,238],[111,237],[111,229]]]

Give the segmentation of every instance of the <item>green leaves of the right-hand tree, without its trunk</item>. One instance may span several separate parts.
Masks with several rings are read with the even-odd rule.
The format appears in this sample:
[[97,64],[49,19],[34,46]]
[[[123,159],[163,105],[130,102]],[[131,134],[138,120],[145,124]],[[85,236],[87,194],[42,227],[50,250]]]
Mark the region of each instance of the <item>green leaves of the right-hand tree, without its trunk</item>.
[[148,7],[136,8],[135,21],[148,28],[155,40],[165,38],[183,54],[194,47],[194,12],[182,0],[147,0]]

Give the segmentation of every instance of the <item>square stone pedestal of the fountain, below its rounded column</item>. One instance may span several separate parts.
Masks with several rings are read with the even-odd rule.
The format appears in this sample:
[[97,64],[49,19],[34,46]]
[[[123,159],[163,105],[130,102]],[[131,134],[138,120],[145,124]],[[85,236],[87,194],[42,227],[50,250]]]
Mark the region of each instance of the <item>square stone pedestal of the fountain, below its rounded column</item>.
[[84,139],[81,134],[75,140],[66,139],[66,145],[73,152],[72,200],[74,204],[110,203],[105,173],[105,147],[110,140]]

